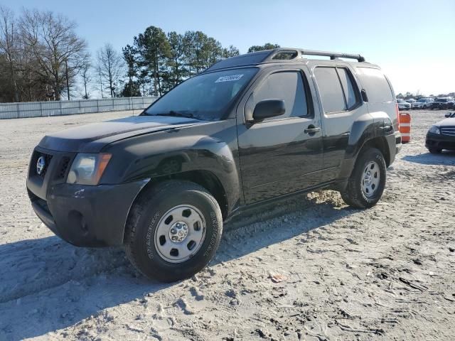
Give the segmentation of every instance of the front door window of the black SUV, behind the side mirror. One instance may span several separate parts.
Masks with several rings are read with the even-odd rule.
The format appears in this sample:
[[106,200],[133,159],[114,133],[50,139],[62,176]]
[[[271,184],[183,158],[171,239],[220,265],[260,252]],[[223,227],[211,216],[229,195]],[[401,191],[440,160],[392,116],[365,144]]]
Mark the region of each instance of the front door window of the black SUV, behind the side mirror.
[[255,104],[264,99],[281,99],[286,112],[274,119],[308,115],[304,80],[299,71],[276,72],[269,75],[255,91]]

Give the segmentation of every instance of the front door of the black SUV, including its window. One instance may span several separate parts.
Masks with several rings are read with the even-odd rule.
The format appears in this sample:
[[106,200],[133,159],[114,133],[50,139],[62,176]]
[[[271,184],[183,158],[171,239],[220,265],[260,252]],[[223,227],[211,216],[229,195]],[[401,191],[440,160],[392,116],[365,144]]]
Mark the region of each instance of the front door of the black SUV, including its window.
[[[264,71],[237,109],[240,168],[247,204],[320,182],[321,120],[315,114],[305,72],[300,68]],[[255,104],[264,99],[283,100],[286,112],[248,124],[245,114],[251,115]]]

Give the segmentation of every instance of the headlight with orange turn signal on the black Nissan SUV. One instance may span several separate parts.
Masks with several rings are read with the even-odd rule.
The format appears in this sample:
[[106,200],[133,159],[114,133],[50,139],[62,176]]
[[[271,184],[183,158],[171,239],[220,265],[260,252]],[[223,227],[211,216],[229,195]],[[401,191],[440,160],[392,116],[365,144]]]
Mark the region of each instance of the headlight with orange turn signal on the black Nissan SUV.
[[79,185],[97,185],[111,156],[111,154],[107,153],[77,154],[71,164],[66,182]]

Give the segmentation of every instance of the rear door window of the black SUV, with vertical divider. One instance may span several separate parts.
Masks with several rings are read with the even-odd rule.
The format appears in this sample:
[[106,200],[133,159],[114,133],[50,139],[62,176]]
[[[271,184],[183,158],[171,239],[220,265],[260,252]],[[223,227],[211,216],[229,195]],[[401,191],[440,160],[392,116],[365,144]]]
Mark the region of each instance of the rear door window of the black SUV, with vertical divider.
[[357,87],[352,75],[344,67],[316,67],[314,75],[326,114],[344,112],[358,104]]

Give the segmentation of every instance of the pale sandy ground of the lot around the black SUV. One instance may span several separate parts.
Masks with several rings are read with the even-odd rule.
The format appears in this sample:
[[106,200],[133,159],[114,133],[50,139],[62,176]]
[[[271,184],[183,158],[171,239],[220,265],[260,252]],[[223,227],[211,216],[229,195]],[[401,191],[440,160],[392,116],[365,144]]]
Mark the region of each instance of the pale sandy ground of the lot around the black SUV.
[[411,114],[376,207],[325,191],[264,208],[173,284],[141,278],[122,249],[62,242],[26,195],[46,132],[127,113],[0,121],[0,340],[453,340],[455,153],[424,148],[444,112]]

